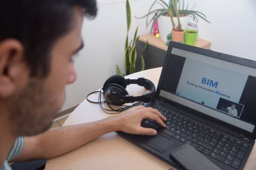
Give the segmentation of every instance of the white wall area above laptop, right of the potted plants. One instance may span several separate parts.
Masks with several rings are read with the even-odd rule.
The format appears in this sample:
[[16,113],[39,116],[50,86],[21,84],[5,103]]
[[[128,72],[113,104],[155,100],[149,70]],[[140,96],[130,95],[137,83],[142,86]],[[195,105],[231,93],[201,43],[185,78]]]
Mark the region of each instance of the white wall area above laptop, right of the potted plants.
[[256,60],[255,0],[185,0],[203,12],[211,24],[199,21],[199,37],[212,42],[212,50]]

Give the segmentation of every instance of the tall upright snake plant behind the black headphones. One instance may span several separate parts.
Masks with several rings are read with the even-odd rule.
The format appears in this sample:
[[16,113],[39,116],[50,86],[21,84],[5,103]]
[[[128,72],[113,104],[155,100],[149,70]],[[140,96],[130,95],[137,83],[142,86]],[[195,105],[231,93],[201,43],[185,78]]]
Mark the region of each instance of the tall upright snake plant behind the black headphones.
[[[136,60],[137,60],[137,50],[136,50],[136,45],[138,43],[139,37],[138,36],[138,27],[134,33],[133,39],[129,42],[129,31],[132,23],[132,14],[131,14],[131,6],[129,0],[126,0],[126,21],[127,21],[127,35],[125,39],[125,51],[124,51],[124,74],[129,75],[135,72],[136,69]],[[144,57],[143,53],[145,49],[147,48],[148,43],[146,43],[145,47],[143,48],[140,56],[140,70],[145,69],[145,62],[144,62]],[[116,74],[122,75],[121,70],[119,69],[119,66],[116,65]]]

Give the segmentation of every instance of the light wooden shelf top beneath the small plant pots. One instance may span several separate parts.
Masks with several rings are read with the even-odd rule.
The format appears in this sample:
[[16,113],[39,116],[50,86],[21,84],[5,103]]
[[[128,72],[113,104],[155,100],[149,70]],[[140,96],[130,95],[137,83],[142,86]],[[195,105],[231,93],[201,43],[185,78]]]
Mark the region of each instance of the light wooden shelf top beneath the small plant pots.
[[[167,51],[168,47],[165,45],[165,42],[160,38],[156,38],[154,35],[151,35],[150,33],[140,36],[139,40],[144,43],[146,43],[148,40],[148,44]],[[210,49],[211,44],[212,43],[210,41],[198,39],[194,46],[200,47],[200,48],[205,48],[205,49]]]

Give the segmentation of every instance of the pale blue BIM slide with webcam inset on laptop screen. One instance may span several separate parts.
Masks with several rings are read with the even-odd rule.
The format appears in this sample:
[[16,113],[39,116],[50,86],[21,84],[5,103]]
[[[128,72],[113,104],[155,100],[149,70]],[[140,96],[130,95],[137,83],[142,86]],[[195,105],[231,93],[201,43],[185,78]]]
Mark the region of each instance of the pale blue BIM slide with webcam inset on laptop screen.
[[[240,117],[248,75],[186,58],[176,94]],[[238,109],[238,110],[237,110]]]

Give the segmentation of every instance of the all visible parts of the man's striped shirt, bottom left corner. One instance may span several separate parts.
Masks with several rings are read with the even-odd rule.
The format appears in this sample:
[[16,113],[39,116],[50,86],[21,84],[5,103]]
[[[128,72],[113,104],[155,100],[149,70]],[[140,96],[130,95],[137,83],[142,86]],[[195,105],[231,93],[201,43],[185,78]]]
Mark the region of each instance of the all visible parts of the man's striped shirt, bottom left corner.
[[9,166],[8,162],[15,159],[18,155],[20,155],[22,149],[24,147],[24,138],[23,137],[18,137],[14,145],[12,146],[6,161],[4,162],[4,165],[2,167],[2,170],[11,170],[12,168]]

